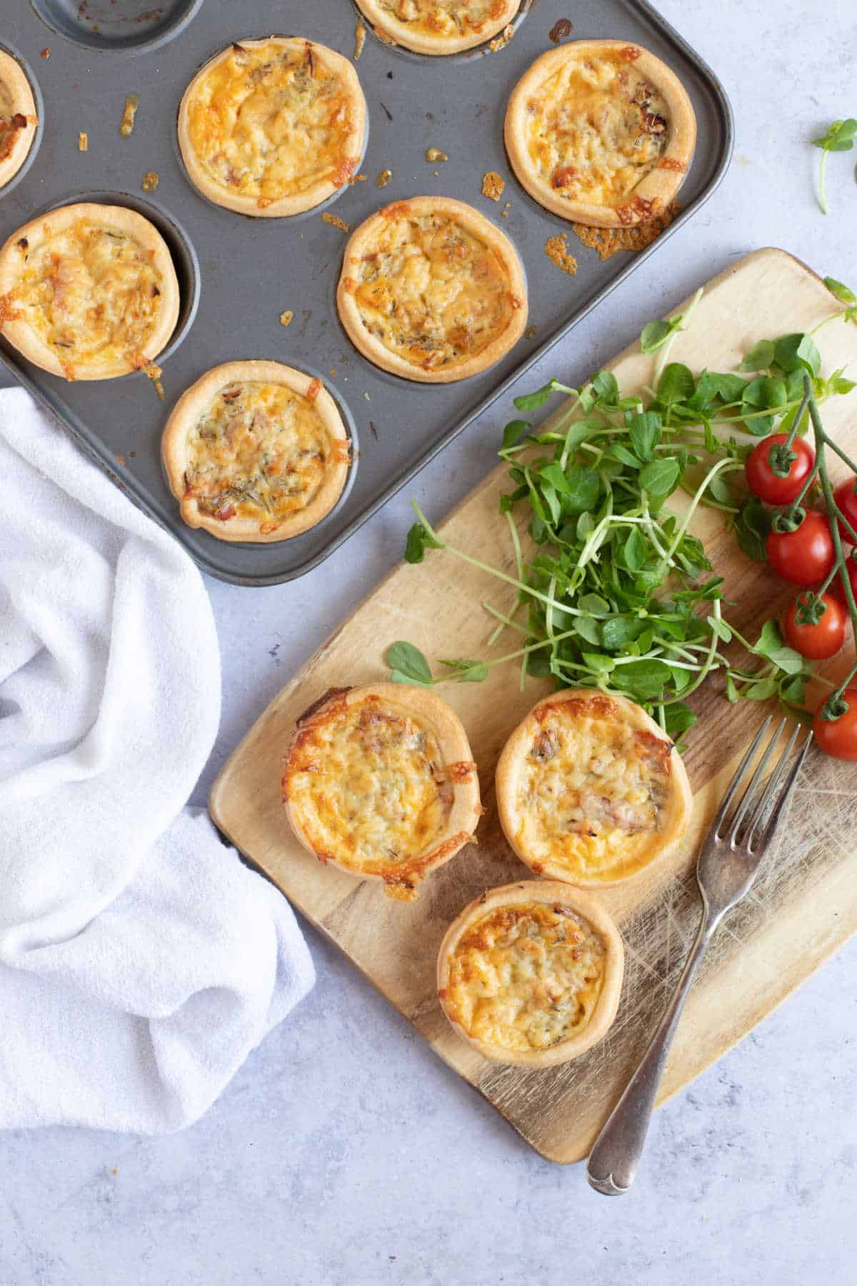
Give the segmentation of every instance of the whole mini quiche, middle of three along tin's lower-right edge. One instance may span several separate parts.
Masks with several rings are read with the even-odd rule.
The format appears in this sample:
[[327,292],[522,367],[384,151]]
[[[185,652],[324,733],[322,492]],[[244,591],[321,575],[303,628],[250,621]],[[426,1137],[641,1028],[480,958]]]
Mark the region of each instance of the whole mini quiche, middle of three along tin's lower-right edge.
[[492,367],[518,342],[527,287],[514,246],[478,210],[412,197],[352,234],[337,307],[351,342],[376,367],[450,383]]

